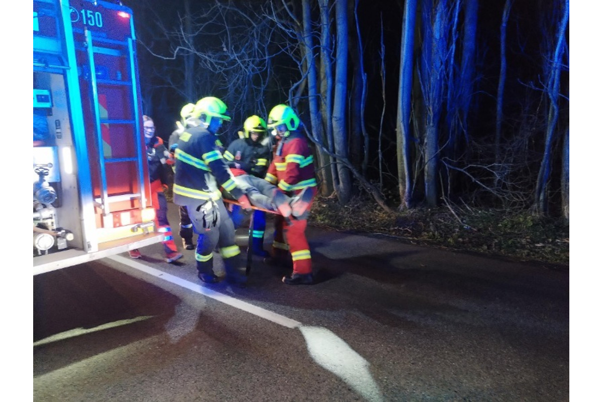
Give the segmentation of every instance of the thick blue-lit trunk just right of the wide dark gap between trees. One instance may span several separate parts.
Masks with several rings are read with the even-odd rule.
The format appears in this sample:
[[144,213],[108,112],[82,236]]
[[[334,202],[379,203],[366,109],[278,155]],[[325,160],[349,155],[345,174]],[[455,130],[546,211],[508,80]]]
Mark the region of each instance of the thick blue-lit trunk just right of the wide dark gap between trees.
[[417,0],[406,0],[400,41],[400,80],[396,119],[396,146],[398,191],[400,209],[409,208],[411,201],[411,151],[410,119],[412,93],[412,66],[414,65],[414,31]]

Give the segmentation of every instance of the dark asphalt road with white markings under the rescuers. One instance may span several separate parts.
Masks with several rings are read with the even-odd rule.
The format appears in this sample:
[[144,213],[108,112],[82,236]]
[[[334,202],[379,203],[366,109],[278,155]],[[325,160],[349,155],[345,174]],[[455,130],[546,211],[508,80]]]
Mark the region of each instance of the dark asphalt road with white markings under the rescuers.
[[569,272],[308,234],[312,286],[201,285],[161,245],[36,275],[34,401],[569,400]]

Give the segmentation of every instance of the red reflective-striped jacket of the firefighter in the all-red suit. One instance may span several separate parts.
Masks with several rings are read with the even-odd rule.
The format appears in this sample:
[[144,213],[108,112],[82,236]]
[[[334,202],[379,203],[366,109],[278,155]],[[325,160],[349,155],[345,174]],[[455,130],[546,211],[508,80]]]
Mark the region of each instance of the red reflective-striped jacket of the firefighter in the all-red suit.
[[291,131],[280,140],[265,179],[288,194],[317,186],[314,156],[303,134]]

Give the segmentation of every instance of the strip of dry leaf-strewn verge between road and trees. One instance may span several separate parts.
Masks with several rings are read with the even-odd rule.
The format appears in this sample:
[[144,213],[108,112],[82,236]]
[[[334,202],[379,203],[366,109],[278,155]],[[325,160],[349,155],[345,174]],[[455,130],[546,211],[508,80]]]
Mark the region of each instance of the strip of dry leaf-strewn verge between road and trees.
[[406,243],[569,266],[569,225],[528,212],[443,206],[391,215],[367,199],[355,198],[340,206],[336,199],[318,197],[309,222],[339,231],[385,234]]

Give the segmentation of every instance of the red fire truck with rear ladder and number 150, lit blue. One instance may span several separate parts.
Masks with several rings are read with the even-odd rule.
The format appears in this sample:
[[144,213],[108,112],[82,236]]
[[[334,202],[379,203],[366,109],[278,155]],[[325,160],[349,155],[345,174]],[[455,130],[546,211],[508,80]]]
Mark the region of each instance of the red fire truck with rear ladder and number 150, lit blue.
[[33,1],[34,275],[161,242],[130,8]]

